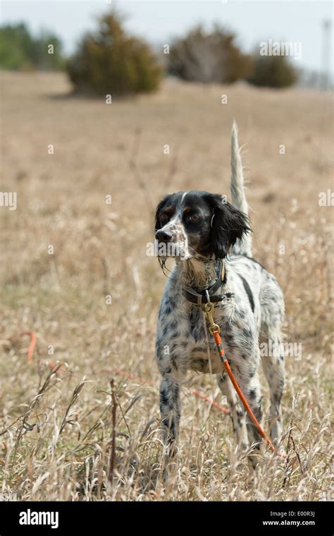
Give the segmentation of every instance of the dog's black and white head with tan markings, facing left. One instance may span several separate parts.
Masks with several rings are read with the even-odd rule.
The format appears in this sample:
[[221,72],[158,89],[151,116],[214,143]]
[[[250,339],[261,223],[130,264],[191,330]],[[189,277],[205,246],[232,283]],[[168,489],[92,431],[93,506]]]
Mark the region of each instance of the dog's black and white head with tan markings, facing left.
[[197,190],[164,197],[156,207],[155,229],[159,255],[182,260],[194,255],[223,259],[251,230],[247,215],[224,197]]

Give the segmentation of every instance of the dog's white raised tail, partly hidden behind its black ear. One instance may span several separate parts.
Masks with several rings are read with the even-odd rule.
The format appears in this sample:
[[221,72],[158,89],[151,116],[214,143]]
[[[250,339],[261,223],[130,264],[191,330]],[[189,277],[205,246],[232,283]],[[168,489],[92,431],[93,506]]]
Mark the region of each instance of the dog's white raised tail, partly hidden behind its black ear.
[[[236,209],[248,215],[248,205],[244,188],[244,176],[242,173],[242,162],[237,141],[237,123],[233,121],[231,134],[231,198],[232,205]],[[241,241],[237,240],[233,252],[239,255],[252,257],[252,236],[248,234]]]

